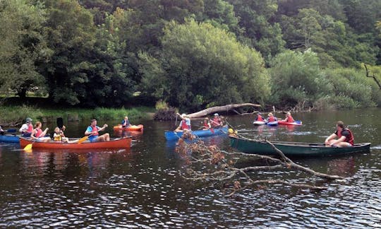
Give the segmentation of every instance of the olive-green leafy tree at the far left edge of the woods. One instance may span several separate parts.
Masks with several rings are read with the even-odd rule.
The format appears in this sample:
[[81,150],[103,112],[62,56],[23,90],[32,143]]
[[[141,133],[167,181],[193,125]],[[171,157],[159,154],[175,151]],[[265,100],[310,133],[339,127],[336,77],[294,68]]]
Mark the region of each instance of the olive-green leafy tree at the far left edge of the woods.
[[25,98],[32,87],[44,88],[37,64],[49,59],[41,4],[28,0],[0,1],[0,89]]

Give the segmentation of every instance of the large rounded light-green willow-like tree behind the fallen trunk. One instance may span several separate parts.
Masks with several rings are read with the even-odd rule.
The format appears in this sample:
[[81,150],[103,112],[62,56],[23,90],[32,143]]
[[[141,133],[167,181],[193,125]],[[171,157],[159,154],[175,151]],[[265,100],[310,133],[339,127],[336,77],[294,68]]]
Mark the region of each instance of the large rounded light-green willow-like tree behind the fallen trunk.
[[[142,87],[171,105],[195,110],[261,102],[270,91],[260,54],[209,23],[169,23],[162,47],[161,67],[152,57],[142,56]],[[157,89],[161,87],[164,90]]]

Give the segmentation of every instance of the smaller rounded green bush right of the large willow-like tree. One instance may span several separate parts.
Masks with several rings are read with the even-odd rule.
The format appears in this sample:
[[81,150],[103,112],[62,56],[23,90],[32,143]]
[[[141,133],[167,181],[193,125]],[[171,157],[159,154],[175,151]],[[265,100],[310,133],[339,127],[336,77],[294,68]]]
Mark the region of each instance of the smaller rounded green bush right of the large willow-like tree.
[[317,54],[285,51],[271,62],[272,99],[277,105],[291,106],[313,101],[332,92],[332,84],[320,69]]

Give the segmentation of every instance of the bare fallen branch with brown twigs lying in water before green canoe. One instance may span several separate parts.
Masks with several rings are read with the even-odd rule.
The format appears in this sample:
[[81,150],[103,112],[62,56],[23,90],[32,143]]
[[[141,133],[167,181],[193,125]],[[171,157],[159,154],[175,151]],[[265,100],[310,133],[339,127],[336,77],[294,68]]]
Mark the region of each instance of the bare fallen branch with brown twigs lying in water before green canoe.
[[[194,138],[194,136],[191,137],[191,139],[192,138]],[[272,172],[284,170],[305,172],[308,175],[319,177],[326,181],[344,179],[344,177],[315,172],[310,168],[298,165],[287,158],[286,155],[277,149],[270,141],[266,142],[277,151],[280,158],[273,158],[268,155],[223,151],[215,145],[207,146],[201,140],[194,143],[186,143],[186,141],[181,138],[176,147],[176,153],[179,153],[181,158],[186,160],[185,170],[181,172],[181,175],[184,179],[193,182],[209,183],[212,185],[217,184],[224,189],[226,192],[225,196],[233,196],[236,192],[250,187],[262,189],[268,184],[282,184],[287,187],[300,189],[327,189],[325,186],[312,184],[315,181],[313,177],[303,177],[304,180],[311,180],[311,184],[271,178],[262,179],[262,177],[267,175],[276,175]],[[238,162],[248,159],[255,159],[254,163],[257,165],[238,167]]]

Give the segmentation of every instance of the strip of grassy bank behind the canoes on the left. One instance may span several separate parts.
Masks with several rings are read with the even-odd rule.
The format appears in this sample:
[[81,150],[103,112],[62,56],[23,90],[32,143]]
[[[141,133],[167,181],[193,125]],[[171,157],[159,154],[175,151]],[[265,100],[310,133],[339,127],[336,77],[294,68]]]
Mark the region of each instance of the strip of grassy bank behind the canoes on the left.
[[37,108],[33,106],[0,106],[0,124],[19,124],[26,117],[41,122],[56,122],[57,117],[67,121],[82,121],[90,119],[113,120],[123,119],[128,115],[129,119],[147,119],[147,112],[155,112],[154,107],[125,108]]

